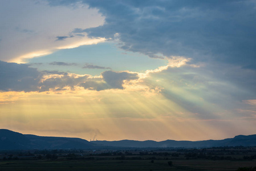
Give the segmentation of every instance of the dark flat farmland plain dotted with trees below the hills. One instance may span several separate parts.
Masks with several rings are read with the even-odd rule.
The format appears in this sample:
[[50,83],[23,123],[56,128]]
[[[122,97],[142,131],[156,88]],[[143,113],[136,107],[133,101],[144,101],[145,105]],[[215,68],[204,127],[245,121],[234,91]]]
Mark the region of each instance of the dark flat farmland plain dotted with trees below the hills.
[[2,151],[0,170],[238,170],[256,148]]

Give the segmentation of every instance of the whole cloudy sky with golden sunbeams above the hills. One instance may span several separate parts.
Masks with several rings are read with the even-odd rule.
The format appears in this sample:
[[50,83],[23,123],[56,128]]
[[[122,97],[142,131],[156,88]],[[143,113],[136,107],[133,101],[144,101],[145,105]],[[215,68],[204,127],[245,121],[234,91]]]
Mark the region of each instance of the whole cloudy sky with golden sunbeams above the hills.
[[256,1],[2,0],[0,127],[86,140],[256,133]]

